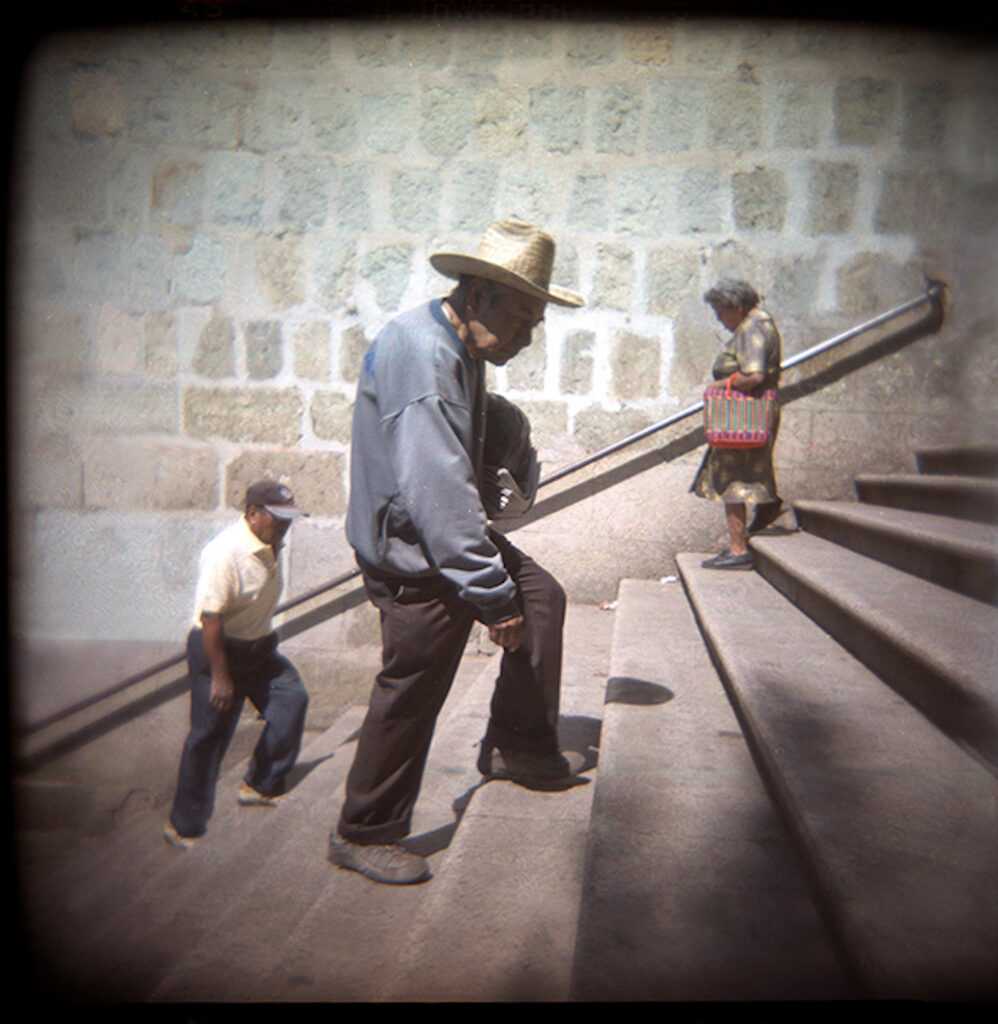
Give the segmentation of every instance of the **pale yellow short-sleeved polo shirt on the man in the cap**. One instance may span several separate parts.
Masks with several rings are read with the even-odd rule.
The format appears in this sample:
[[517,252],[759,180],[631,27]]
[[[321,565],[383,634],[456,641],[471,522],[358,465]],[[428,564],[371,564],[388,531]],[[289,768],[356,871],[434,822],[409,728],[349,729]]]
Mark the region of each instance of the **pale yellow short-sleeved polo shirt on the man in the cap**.
[[201,553],[194,626],[201,628],[207,611],[222,616],[227,637],[257,640],[273,631],[271,616],[283,589],[280,559],[241,516]]

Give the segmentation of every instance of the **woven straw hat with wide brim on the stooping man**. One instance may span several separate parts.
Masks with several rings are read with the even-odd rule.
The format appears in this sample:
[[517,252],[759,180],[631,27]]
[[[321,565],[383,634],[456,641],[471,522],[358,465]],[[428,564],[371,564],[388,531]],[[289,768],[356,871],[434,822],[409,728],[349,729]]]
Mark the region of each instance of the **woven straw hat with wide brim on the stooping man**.
[[583,306],[581,295],[551,284],[555,240],[532,224],[497,220],[482,238],[474,256],[434,253],[433,267],[447,278],[485,278],[560,306]]

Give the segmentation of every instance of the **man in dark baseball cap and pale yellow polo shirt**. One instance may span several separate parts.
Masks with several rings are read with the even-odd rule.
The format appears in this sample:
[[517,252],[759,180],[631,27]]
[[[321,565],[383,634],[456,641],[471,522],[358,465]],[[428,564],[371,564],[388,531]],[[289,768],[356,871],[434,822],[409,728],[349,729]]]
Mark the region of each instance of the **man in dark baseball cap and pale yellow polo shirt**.
[[284,586],[281,542],[304,513],[274,480],[250,486],[245,508],[201,554],[187,637],[190,731],[163,831],[181,849],[207,829],[222,758],[247,698],[266,725],[240,786],[241,804],[273,806],[280,799],[305,727],[308,694],[298,671],[277,653],[271,623]]

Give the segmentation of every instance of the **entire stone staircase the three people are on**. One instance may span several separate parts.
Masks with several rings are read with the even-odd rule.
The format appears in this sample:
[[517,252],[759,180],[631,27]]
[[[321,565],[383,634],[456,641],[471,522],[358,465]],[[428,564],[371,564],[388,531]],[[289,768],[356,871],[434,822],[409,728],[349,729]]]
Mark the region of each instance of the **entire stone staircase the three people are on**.
[[162,812],[69,848],[25,830],[40,980],[100,1002],[994,999],[998,450],[916,461],[799,503],[756,571],[680,555],[615,614],[570,606],[567,792],[482,782],[496,664],[466,655],[408,841],[424,885],[326,861],[359,708],[277,808],[235,805],[233,762],[191,851]]

